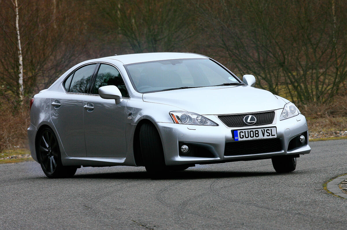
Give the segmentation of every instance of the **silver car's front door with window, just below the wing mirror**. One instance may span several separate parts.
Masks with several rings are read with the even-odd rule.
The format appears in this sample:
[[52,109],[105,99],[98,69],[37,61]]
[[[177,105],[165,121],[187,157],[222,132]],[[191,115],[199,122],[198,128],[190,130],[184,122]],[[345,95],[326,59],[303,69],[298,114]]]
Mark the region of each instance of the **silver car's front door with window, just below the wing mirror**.
[[[98,89],[116,85],[122,93],[119,104],[103,99]],[[126,157],[125,107],[129,95],[124,81],[114,66],[101,64],[92,83],[91,93],[83,104],[84,133],[88,157]]]

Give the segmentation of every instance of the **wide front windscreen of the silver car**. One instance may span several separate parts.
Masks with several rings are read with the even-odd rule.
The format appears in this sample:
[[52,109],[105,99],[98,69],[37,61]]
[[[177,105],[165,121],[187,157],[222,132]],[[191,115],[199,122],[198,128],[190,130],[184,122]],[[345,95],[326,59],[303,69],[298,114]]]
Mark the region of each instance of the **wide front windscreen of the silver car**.
[[140,93],[182,88],[241,84],[210,59],[173,59],[126,65],[130,80]]

